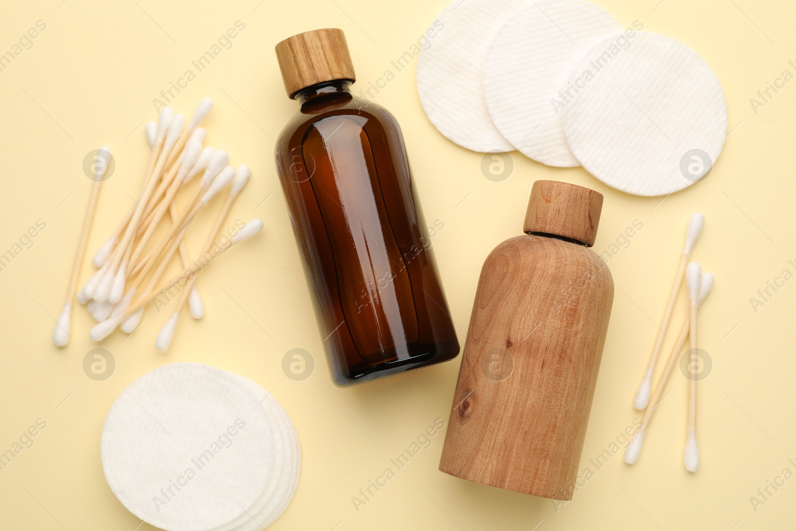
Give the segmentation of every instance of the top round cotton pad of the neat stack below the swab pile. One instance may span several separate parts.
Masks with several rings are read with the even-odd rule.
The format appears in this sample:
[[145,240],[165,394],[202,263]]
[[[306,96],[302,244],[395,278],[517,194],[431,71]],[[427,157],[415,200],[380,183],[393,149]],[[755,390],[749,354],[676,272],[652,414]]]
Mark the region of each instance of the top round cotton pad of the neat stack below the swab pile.
[[[262,492],[273,466],[271,426],[248,413],[254,399],[207,365],[164,365],[139,377],[103,424],[100,458],[111,491],[131,513],[167,531],[208,531],[232,521]],[[236,417],[246,418],[245,429]],[[236,436],[228,423],[238,426]],[[210,454],[199,467],[191,458],[205,447]],[[182,476],[181,489],[173,487],[166,506],[153,509],[150,498],[163,496],[160,488],[174,478],[180,482],[185,467],[196,469],[193,476]]]

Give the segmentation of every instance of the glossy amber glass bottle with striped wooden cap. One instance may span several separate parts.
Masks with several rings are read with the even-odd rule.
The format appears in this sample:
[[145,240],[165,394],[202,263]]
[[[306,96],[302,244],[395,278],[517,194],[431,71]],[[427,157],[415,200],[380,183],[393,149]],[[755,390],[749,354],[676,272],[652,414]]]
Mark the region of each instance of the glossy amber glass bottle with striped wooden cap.
[[349,92],[340,29],[276,46],[301,108],[276,143],[276,167],[318,297],[339,385],[450,360],[458,341],[415,204],[396,119]]

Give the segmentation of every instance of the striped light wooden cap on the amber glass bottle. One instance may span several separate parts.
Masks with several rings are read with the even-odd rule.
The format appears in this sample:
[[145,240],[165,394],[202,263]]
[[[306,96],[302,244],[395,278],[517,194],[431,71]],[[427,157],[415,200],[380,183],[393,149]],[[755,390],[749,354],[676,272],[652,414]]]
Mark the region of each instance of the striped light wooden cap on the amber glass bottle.
[[298,33],[276,45],[287,96],[295,100],[304,88],[334,80],[356,80],[342,29]]

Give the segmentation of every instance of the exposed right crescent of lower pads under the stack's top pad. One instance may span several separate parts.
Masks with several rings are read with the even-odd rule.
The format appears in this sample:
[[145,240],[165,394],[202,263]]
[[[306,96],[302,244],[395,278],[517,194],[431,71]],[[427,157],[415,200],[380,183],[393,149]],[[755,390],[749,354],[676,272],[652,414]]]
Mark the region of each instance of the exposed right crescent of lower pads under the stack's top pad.
[[248,514],[236,518],[231,525],[213,531],[264,529],[282,515],[295,494],[301,467],[298,434],[287,412],[273,395],[248,378],[238,374],[231,376],[257,396],[256,411],[266,416],[275,427],[274,471],[266,489]]

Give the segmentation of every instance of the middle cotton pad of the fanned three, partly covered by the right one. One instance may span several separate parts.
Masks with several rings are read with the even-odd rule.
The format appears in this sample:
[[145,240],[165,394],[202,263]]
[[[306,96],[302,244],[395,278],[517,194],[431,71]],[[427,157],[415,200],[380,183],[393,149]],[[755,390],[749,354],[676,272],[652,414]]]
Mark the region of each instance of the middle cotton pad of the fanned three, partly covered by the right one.
[[587,0],[534,0],[494,38],[484,63],[486,107],[517,150],[548,166],[580,166],[561,123],[576,96],[572,72],[589,49],[622,31],[606,10]]

